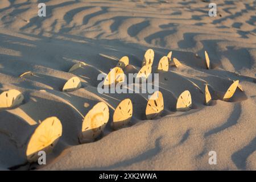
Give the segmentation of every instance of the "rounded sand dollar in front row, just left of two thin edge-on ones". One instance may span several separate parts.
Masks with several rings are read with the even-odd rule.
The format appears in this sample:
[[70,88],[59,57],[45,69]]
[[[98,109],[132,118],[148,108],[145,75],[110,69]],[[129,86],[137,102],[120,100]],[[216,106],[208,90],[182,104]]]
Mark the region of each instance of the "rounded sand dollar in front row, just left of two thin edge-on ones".
[[188,111],[191,109],[191,106],[191,94],[188,90],[185,90],[183,93],[180,94],[179,98],[177,99],[176,109],[177,111]]

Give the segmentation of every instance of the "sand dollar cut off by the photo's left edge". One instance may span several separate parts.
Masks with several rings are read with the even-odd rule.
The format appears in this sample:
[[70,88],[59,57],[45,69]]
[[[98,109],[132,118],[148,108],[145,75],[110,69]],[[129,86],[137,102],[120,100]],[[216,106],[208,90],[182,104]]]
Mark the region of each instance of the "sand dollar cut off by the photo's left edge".
[[13,108],[22,104],[24,96],[19,90],[11,89],[0,94],[0,109]]

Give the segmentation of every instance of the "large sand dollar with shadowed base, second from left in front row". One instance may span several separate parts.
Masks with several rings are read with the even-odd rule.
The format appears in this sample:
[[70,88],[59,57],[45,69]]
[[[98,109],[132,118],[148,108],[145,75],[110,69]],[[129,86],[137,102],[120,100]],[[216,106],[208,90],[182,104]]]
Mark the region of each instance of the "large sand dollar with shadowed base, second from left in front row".
[[109,121],[109,107],[104,102],[98,102],[85,115],[82,122],[82,132],[79,135],[81,143],[92,142],[104,130]]

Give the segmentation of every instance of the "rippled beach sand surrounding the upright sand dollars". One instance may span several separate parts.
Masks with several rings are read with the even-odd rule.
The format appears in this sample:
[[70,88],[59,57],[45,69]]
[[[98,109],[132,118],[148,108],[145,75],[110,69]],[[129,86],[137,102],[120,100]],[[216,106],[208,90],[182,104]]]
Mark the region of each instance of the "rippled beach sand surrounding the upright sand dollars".
[[[37,1],[0,3],[0,91],[24,95],[21,106],[0,111],[0,169],[26,163],[28,139],[51,116],[60,119],[63,135],[37,169],[256,169],[255,1],[216,1],[217,17],[201,1],[44,2],[46,18],[37,16]],[[183,64],[160,73],[164,111],[155,120],[146,120],[142,94],[97,92],[99,73],[108,74],[122,56],[131,64],[125,73],[138,72],[148,48],[155,51],[152,70],[170,51]],[[86,66],[69,73],[79,61]],[[35,76],[19,78],[27,71]],[[73,76],[81,88],[61,92]],[[245,91],[221,101],[232,80]],[[206,83],[210,106],[200,92]],[[192,110],[177,112],[184,90]],[[133,118],[113,131],[113,109],[125,98],[133,101]],[[83,117],[99,101],[109,105],[109,123],[96,142],[79,144]],[[217,165],[208,164],[212,150]]]

